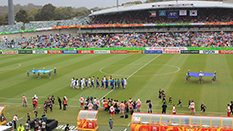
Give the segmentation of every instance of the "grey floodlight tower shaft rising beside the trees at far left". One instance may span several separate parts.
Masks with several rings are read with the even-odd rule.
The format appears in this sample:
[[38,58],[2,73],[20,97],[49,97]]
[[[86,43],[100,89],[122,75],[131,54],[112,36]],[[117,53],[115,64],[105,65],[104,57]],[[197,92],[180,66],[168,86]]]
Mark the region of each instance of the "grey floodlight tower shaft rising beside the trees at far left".
[[15,24],[14,5],[13,0],[8,0],[8,24]]

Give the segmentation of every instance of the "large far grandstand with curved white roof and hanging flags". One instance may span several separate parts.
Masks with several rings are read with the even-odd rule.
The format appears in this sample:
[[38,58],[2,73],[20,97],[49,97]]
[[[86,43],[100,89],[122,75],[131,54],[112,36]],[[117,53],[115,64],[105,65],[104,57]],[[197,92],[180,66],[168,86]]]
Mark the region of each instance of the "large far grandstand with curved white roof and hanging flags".
[[[37,35],[47,35],[50,34],[69,34],[76,39],[82,39],[77,34],[91,34],[87,35],[91,37],[92,35],[101,34],[101,39],[108,39],[102,37],[105,34],[110,35],[111,38],[115,38],[116,33],[122,34],[142,34],[146,35],[149,33],[148,37],[155,38],[158,35],[167,32],[166,37],[161,37],[164,39],[166,44],[156,45],[156,44],[146,44],[140,46],[180,46],[179,42],[183,43],[183,46],[216,46],[216,43],[220,46],[231,46],[231,36],[233,29],[233,4],[225,2],[213,2],[213,1],[165,1],[165,2],[155,2],[155,3],[144,3],[138,5],[121,6],[116,8],[109,8],[105,10],[100,10],[93,12],[89,17],[76,18],[72,20],[62,20],[62,21],[46,21],[46,22],[31,22],[24,25],[25,30],[33,29],[33,32],[24,32],[16,34],[5,34],[8,37],[8,41],[11,39],[21,39],[21,38],[32,38]],[[153,14],[153,15],[152,15]],[[4,31],[15,31],[20,30],[20,25],[12,26],[1,26],[0,32]],[[34,30],[35,29],[35,30]],[[37,30],[38,29],[38,30]],[[44,30],[43,30],[44,29]],[[36,31],[36,32],[35,32]],[[221,39],[219,37],[220,32],[224,32],[226,38]],[[190,32],[190,33],[187,33]],[[203,33],[204,32],[204,33]],[[206,33],[205,33],[206,32]],[[15,32],[13,32],[15,33]],[[178,37],[175,37],[177,33]],[[4,34],[4,33],[3,33]],[[189,34],[189,36],[185,35]],[[201,34],[201,36],[197,34]],[[210,36],[204,36],[210,35]],[[220,34],[221,35],[221,34]],[[209,38],[211,37],[211,38]],[[80,47],[80,45],[75,44],[75,38],[70,40],[70,45],[65,47]],[[126,37],[127,39],[127,37]],[[133,38],[131,38],[133,39]],[[118,40],[115,38],[115,40]],[[1,40],[4,41],[4,40]],[[30,42],[33,42],[29,40]],[[54,41],[54,40],[53,40]],[[119,40],[121,41],[121,40]],[[117,42],[119,42],[117,41]],[[129,40],[128,40],[129,41]],[[131,41],[131,40],[130,40]],[[143,40],[142,40],[143,41]],[[152,40],[153,41],[153,40]],[[169,41],[169,44],[166,41]],[[178,45],[176,44],[178,41]],[[190,42],[192,41],[192,42]],[[209,44],[204,45],[203,43],[209,42]],[[38,41],[37,41],[38,42]],[[139,46],[138,44],[126,44],[126,45],[113,45],[113,43],[96,44],[92,41],[80,41],[87,45],[81,47],[91,46]],[[8,42],[9,43],[9,42]],[[17,42],[24,43],[24,42]],[[42,42],[43,43],[43,42]],[[158,43],[158,42],[156,42]],[[189,44],[187,44],[189,43]],[[214,44],[213,44],[214,43]],[[74,44],[74,45],[73,45]],[[18,46],[14,46],[18,47]],[[20,46],[21,47],[21,46]],[[51,48],[56,46],[45,46],[44,48]]]

